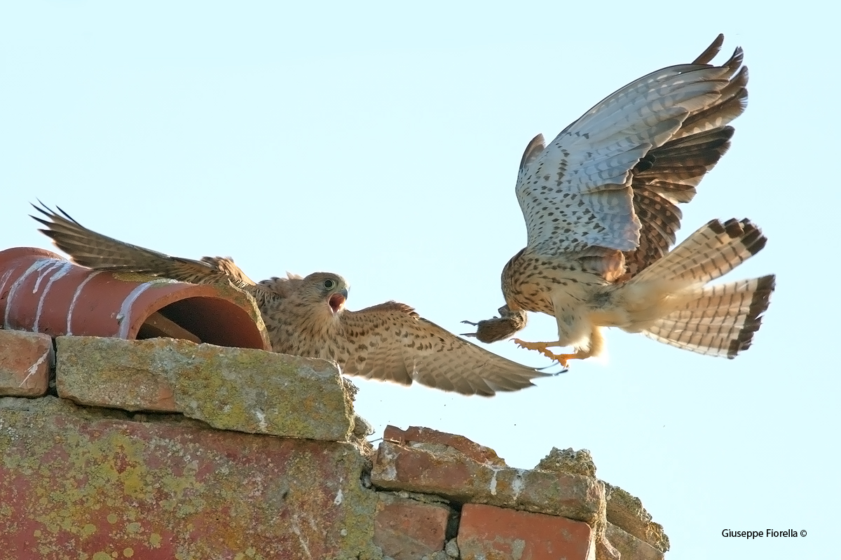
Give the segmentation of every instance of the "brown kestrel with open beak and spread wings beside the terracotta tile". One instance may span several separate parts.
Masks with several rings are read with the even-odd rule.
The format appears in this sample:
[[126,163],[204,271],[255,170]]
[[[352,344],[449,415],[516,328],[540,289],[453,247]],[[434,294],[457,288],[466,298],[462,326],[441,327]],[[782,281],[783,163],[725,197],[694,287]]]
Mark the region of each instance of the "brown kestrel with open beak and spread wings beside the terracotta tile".
[[316,272],[257,283],[231,259],[171,257],[95,233],[61,208],[63,216],[35,209],[50,218],[34,217],[47,227],[40,231],[82,266],[193,284],[230,282],[245,290],[257,301],[278,353],[330,359],[346,374],[402,385],[417,381],[463,395],[520,390],[547,375],[468,343],[396,301],[349,311],[348,285],[340,275]]

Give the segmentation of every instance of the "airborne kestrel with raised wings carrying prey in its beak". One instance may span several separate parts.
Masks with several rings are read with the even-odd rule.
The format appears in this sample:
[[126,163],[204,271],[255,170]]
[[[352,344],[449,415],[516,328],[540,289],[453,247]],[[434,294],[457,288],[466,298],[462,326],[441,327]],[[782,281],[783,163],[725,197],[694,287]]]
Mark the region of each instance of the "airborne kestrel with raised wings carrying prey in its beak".
[[[468,322],[482,342],[508,338],[526,311],[552,315],[558,339],[515,342],[563,366],[598,355],[601,327],[642,332],[692,352],[734,358],[747,349],[774,275],[707,285],[761,250],[747,219],[712,220],[669,252],[680,202],[730,146],[726,126],[747,105],[736,49],[709,64],[723,35],[691,64],[643,76],[606,97],[551,144],[526,147],[516,195],[528,243],[502,271],[500,317]],[[555,354],[550,347],[573,347]]]

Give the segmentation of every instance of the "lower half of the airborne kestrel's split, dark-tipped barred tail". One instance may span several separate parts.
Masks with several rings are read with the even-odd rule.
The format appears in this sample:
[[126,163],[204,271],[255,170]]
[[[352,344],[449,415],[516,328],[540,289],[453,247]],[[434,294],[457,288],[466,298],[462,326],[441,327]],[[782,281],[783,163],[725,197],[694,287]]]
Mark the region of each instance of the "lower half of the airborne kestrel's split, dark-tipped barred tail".
[[775,276],[767,275],[706,287],[643,334],[677,348],[733,359],[750,348],[774,286]]

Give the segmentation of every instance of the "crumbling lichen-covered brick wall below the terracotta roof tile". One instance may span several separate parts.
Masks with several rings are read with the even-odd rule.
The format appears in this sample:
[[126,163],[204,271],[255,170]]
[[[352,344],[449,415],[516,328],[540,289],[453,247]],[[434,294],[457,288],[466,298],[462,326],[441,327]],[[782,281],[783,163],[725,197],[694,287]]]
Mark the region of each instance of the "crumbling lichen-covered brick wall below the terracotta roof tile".
[[0,558],[663,558],[586,451],[422,427],[374,449],[335,364],[0,330]]

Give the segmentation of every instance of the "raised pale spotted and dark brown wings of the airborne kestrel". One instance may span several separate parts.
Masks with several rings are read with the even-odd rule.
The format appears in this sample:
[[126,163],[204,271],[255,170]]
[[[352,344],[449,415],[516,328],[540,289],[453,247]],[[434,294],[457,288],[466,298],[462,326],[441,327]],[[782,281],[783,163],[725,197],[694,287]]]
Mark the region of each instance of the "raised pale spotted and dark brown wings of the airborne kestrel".
[[532,140],[516,194],[533,254],[619,250],[638,272],[668,250],[680,226],[675,204],[691,200],[727,150],[733,129],[725,125],[746,104],[742,50],[706,64],[722,39],[692,64],[622,87],[546,148]]

